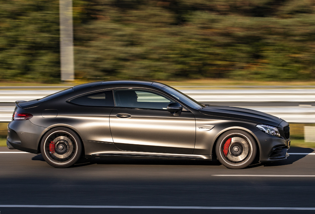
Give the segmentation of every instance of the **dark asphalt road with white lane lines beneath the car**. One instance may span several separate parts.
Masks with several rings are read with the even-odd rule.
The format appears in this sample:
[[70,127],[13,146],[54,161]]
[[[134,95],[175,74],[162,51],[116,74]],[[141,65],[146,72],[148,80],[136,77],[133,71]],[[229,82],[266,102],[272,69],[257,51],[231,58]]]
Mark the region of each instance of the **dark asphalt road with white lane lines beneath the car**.
[[57,169],[41,155],[0,147],[0,214],[314,213],[314,150],[291,148],[287,160],[242,170],[127,158]]

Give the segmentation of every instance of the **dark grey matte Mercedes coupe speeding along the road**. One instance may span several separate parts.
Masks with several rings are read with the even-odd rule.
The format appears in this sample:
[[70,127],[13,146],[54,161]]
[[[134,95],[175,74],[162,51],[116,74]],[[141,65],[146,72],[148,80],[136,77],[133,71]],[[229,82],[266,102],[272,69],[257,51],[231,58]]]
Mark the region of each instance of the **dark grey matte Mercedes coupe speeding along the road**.
[[93,82],[17,101],[10,149],[42,154],[54,167],[79,158],[218,159],[228,168],[284,160],[289,124],[250,109],[203,105],[157,82]]

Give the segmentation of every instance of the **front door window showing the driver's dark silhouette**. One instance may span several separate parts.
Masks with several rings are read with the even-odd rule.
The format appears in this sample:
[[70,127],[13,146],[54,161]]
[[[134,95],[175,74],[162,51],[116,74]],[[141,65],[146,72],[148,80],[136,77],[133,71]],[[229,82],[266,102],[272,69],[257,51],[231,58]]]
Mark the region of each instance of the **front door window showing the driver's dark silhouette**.
[[116,107],[165,109],[170,103],[168,98],[145,90],[125,89],[114,91]]

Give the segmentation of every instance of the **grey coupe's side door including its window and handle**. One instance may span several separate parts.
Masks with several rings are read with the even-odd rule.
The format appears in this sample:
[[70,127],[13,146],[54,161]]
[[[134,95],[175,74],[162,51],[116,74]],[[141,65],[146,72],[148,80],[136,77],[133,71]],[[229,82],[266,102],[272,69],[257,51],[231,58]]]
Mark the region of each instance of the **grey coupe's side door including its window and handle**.
[[196,122],[183,108],[179,116],[167,111],[174,103],[150,90],[114,91],[115,107],[110,113],[110,131],[115,146],[124,151],[192,154]]

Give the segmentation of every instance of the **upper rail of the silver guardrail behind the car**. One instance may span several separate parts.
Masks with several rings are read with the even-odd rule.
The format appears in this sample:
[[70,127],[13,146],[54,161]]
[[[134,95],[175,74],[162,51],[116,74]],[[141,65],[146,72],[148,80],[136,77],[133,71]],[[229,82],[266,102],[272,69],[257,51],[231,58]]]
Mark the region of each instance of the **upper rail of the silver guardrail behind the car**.
[[[0,103],[34,100],[60,90],[0,90]],[[180,90],[199,102],[315,102],[315,89]]]

